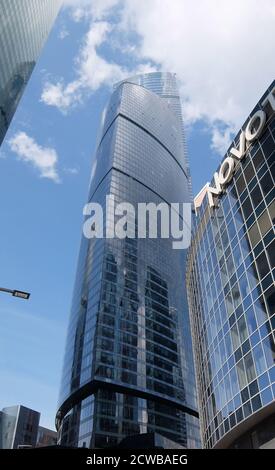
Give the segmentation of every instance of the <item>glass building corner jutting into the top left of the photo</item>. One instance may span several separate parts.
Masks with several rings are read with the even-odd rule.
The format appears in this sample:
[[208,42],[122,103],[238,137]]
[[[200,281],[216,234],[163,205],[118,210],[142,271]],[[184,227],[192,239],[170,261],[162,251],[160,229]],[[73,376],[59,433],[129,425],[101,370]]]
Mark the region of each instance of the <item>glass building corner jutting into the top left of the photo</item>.
[[0,145],[62,0],[0,0]]

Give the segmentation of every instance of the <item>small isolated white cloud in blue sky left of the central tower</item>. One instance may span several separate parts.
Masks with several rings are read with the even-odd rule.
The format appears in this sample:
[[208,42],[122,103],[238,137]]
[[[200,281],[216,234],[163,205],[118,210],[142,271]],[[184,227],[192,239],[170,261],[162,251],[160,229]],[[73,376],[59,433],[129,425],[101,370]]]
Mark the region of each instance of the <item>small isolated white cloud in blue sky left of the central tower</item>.
[[56,169],[58,155],[55,149],[41,147],[25,132],[15,134],[8,144],[19,160],[31,164],[39,171],[42,178],[49,178],[55,183],[60,182]]

